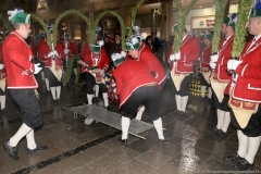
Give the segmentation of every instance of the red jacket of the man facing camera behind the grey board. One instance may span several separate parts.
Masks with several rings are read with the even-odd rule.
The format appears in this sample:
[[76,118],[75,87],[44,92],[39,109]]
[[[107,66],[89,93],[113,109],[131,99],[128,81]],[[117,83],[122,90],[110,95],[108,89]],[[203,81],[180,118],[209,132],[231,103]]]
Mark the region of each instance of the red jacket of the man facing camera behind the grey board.
[[[97,69],[104,69],[108,70],[110,65],[110,59],[107,54],[105,48],[102,47],[99,58],[96,62],[94,58],[94,52],[89,49],[89,45],[86,44],[84,51],[82,53],[82,58],[84,59],[84,62],[88,64],[88,66],[91,67],[97,67]],[[89,72],[87,67],[82,66],[82,72]]]

